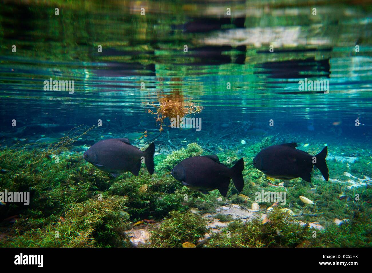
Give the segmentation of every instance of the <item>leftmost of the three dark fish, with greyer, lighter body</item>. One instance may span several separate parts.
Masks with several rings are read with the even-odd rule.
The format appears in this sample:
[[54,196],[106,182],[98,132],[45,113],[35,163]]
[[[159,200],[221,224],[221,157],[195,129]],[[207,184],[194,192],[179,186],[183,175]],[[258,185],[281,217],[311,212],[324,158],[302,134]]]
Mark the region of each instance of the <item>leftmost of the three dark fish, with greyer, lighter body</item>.
[[98,169],[111,173],[114,177],[120,173],[131,172],[138,176],[142,159],[148,172],[154,173],[155,145],[151,143],[144,152],[132,146],[128,139],[106,139],[92,145],[84,159]]

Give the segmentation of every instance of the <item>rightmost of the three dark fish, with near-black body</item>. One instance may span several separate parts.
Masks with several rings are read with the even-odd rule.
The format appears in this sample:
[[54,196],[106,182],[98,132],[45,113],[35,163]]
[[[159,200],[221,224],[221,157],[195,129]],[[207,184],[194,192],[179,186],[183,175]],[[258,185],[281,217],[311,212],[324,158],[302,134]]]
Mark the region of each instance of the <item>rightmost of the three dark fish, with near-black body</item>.
[[295,142],[269,146],[254,157],[253,166],[272,178],[301,177],[307,182],[311,182],[311,172],[315,166],[320,170],[325,181],[328,181],[328,167],[325,162],[327,146],[316,156],[297,150],[296,147],[297,143]]

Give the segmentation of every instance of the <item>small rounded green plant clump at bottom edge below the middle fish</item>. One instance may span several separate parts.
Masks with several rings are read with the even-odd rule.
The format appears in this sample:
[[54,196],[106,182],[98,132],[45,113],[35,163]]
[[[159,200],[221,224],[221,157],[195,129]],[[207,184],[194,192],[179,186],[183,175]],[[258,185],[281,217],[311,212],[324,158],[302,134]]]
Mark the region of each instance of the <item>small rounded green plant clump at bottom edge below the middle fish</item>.
[[158,228],[152,231],[152,247],[182,247],[183,243],[197,244],[207,233],[206,220],[191,212],[171,211]]

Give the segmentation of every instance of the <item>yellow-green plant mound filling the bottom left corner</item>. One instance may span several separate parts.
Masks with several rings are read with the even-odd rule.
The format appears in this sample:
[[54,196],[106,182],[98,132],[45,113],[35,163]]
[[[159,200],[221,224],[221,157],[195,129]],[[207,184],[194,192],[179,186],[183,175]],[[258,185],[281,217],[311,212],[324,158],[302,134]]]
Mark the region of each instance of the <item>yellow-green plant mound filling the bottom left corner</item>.
[[31,229],[22,233],[20,221],[15,225],[14,234],[0,241],[1,247],[94,247],[122,246],[128,217],[125,210],[126,198],[109,196],[89,199],[71,206],[62,217],[54,217],[46,227]]

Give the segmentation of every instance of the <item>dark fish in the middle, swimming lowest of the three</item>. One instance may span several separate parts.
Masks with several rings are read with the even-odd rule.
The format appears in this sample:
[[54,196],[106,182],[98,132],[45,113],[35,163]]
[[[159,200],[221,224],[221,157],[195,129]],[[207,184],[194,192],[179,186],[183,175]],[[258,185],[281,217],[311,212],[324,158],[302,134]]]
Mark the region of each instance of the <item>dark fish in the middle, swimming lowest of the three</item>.
[[203,194],[218,189],[222,196],[226,196],[230,179],[238,192],[243,189],[243,169],[243,158],[229,169],[219,163],[217,156],[193,156],[178,163],[171,175],[177,181],[182,181],[187,188],[201,191]]

